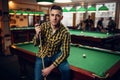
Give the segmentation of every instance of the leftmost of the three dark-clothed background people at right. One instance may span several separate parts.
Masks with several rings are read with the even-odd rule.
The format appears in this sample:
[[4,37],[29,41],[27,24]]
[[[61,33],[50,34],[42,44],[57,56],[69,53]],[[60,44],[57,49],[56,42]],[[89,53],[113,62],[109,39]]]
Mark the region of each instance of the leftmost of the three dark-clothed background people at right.
[[94,21],[91,19],[91,16],[88,16],[88,19],[84,21],[85,23],[85,30],[90,31],[94,27]]

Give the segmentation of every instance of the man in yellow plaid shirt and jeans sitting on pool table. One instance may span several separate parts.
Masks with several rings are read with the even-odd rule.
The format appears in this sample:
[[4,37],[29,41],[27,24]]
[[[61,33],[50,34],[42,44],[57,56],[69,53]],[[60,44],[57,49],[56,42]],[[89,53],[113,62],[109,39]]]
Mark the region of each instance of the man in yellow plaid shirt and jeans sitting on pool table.
[[[61,24],[63,18],[62,8],[53,5],[49,10],[49,16],[50,22],[44,22],[35,27],[34,45],[42,43],[35,63],[35,80],[43,80],[43,77],[47,77],[56,67],[61,72],[62,80],[70,80],[70,68],[67,58],[71,38],[68,29]],[[44,63],[42,63],[42,58]],[[44,69],[42,64],[45,64]]]

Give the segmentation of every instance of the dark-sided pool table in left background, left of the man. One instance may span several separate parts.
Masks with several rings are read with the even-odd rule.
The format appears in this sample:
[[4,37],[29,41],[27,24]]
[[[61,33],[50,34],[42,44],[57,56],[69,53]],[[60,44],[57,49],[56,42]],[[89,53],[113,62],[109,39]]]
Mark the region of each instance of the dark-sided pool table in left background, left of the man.
[[[35,27],[16,27],[16,28],[10,28],[11,31],[11,43],[20,43],[25,41],[31,41],[33,39],[33,36],[35,34]],[[19,38],[19,39],[18,39]]]

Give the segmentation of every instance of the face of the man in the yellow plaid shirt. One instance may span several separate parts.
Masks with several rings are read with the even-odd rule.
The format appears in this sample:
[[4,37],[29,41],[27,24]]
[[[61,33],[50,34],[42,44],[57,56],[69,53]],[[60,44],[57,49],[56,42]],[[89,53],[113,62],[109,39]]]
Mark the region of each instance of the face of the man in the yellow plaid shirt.
[[60,23],[60,21],[62,20],[63,16],[60,10],[55,10],[52,9],[50,11],[50,22],[52,24],[52,26],[56,26]]

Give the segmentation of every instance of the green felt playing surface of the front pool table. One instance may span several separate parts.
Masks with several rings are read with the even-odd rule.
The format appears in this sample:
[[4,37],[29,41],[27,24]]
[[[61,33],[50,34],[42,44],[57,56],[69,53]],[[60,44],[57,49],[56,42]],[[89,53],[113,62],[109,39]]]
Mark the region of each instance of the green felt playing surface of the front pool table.
[[[34,53],[38,51],[38,47],[34,47],[32,43],[19,44],[17,47]],[[86,58],[83,58],[83,54],[86,54]],[[68,58],[70,65],[93,72],[101,77],[104,77],[105,72],[119,60],[120,55],[115,53],[73,45],[71,45]]]

